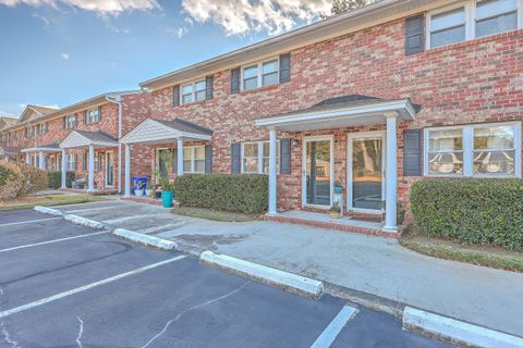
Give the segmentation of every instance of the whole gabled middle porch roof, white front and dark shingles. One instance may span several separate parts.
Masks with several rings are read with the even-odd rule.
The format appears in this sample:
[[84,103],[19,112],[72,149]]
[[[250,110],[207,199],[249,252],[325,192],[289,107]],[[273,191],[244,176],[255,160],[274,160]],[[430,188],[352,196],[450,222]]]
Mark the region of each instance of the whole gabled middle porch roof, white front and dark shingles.
[[166,144],[175,139],[210,140],[212,130],[175,119],[163,121],[147,119],[120,140],[122,144]]

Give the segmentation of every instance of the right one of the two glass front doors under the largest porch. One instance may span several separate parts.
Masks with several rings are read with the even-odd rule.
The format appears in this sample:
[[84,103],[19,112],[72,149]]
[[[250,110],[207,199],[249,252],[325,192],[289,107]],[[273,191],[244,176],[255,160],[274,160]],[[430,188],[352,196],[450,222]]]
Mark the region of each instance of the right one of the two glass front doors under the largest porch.
[[385,185],[385,134],[350,135],[348,154],[349,209],[380,211]]

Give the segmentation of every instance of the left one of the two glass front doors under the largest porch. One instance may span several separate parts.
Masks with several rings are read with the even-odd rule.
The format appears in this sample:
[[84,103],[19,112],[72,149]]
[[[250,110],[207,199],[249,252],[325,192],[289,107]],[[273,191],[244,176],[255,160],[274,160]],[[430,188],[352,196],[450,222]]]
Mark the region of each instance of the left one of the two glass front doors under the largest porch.
[[333,187],[332,137],[305,138],[303,150],[303,206],[328,208]]

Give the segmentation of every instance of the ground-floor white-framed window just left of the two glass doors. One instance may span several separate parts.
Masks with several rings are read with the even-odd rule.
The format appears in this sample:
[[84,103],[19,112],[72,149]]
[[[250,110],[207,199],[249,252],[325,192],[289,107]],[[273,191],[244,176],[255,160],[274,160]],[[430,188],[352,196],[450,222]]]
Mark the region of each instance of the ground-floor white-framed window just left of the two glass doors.
[[[268,174],[269,173],[269,141],[242,142],[242,173],[244,174]],[[276,166],[280,166],[280,142],[276,148]]]

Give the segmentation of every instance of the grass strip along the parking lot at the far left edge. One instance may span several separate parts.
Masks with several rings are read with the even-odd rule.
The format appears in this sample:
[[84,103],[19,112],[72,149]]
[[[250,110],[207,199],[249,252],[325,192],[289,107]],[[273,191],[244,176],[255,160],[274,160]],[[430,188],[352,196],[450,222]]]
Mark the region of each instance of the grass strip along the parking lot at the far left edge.
[[104,200],[102,198],[93,197],[89,195],[44,195],[44,196],[29,196],[15,200],[0,201],[0,211],[19,210],[19,209],[33,209],[35,206],[66,206],[96,202]]

